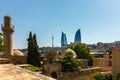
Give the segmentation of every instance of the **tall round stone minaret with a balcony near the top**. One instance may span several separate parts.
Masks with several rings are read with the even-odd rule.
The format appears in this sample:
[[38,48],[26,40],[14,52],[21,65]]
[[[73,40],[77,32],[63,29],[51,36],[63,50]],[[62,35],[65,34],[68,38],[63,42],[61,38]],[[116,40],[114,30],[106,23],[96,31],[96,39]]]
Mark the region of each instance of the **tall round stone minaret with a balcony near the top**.
[[7,50],[3,53],[4,57],[9,58],[13,55],[13,32],[12,20],[10,16],[4,17],[4,25],[2,26],[4,45]]

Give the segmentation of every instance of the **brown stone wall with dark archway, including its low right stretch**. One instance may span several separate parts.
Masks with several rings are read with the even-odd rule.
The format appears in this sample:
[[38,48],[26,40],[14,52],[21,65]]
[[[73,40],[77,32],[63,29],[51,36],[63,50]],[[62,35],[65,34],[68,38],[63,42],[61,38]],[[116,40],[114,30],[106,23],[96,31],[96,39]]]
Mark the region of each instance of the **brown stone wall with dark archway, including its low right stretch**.
[[[46,64],[44,65],[45,74],[53,77],[55,73],[57,80],[93,80],[92,74],[101,71],[100,67],[83,69],[81,72],[61,72],[61,64]],[[53,77],[54,78],[54,77]]]

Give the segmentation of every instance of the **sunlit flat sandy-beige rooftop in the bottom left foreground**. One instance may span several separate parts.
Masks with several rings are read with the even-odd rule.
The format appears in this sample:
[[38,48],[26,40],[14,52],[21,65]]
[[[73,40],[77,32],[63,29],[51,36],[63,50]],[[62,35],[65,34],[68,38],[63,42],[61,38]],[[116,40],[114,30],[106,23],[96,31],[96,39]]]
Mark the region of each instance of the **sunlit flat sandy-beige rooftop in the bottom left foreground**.
[[1,80],[55,80],[42,74],[34,74],[13,64],[0,64]]

